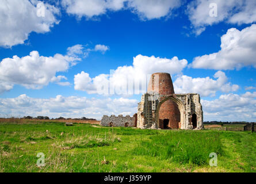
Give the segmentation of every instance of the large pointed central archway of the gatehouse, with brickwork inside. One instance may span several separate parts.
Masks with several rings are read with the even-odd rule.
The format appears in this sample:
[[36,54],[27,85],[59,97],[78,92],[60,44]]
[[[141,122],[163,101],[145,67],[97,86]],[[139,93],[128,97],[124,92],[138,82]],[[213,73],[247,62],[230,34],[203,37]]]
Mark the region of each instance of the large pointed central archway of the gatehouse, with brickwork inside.
[[[162,117],[163,114],[166,114],[165,113],[166,108],[161,108],[161,107],[162,107],[162,105],[163,105],[163,107],[165,106],[166,101],[167,101],[167,104],[170,104],[170,102],[171,102],[171,104],[173,105],[172,107],[173,107],[173,109],[175,109],[173,111],[173,113],[175,112],[175,117],[170,116],[170,114],[169,114],[169,117]],[[167,107],[168,106],[169,105],[167,105]],[[164,110],[164,113],[161,113],[162,110]],[[168,110],[166,112],[168,112]],[[171,121],[173,120],[173,118],[175,120],[174,121],[175,123],[171,124]],[[169,120],[169,128],[172,128],[172,129],[178,129],[178,128],[184,129],[185,128],[185,120],[186,120],[185,106],[184,106],[184,104],[182,104],[181,100],[178,99],[177,97],[172,97],[172,96],[167,97],[165,99],[162,99],[159,102],[159,104],[157,105],[157,108],[156,108],[156,127],[164,129],[163,120],[165,120],[165,119]]]

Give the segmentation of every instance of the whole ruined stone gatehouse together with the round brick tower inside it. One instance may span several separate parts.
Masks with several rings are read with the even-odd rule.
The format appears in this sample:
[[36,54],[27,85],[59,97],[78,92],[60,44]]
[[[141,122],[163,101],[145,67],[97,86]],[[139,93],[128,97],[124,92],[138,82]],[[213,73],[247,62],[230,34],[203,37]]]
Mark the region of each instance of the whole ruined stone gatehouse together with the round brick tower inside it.
[[137,112],[138,128],[202,129],[200,95],[175,94],[170,74],[152,74]]

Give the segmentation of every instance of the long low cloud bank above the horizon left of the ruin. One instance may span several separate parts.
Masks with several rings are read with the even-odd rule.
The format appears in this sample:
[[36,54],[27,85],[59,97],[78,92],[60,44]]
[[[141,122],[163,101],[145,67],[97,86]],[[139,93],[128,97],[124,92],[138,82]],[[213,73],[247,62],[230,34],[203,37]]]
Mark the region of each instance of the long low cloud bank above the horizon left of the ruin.
[[86,98],[63,97],[41,99],[25,94],[17,98],[0,98],[0,116],[49,116],[49,117],[90,117],[101,120],[103,115],[124,114],[132,116],[137,110],[136,99],[128,98]]

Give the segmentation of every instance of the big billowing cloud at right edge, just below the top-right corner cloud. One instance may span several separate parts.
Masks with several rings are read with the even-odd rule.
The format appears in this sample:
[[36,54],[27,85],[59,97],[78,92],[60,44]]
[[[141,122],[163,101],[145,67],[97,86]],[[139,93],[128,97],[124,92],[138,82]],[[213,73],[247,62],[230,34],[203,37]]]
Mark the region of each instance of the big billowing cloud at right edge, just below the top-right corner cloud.
[[244,66],[256,68],[256,24],[242,30],[228,29],[221,37],[219,52],[194,58],[193,68],[239,70]]

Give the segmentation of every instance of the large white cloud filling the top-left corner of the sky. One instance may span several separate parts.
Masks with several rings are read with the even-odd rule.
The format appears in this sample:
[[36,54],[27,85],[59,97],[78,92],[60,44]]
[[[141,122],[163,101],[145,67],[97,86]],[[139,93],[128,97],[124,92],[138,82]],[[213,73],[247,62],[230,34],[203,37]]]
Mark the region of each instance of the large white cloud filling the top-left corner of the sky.
[[59,24],[56,14],[59,9],[44,3],[45,16],[37,16],[37,3],[41,1],[2,0],[0,2],[0,47],[24,44],[29,33],[46,33],[54,24]]

